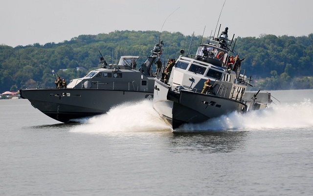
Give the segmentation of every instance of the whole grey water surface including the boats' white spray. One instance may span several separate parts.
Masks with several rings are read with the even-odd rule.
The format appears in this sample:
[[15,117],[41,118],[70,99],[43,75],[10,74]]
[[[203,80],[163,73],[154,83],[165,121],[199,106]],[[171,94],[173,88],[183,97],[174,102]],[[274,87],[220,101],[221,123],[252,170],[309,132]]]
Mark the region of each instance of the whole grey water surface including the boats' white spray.
[[313,90],[171,130],[151,102],[62,124],[0,100],[3,196],[312,196]]

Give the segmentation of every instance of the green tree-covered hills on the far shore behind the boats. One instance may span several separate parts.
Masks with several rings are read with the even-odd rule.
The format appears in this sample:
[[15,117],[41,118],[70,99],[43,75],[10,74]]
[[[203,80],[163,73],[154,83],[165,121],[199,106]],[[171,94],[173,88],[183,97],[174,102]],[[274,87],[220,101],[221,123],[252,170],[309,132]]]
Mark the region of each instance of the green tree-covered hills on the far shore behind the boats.
[[[58,44],[36,43],[16,47],[2,44],[0,92],[54,87],[52,70],[68,82],[82,77],[89,70],[100,67],[99,51],[108,64],[118,63],[120,56],[134,55],[140,56],[137,64],[141,65],[159,40],[164,43],[161,61],[166,63],[169,58],[177,59],[180,49],[187,52],[189,46],[189,53],[194,54],[198,45],[208,43],[209,38],[185,36],[179,32],[126,30],[80,35]],[[237,37],[234,50],[241,58],[245,57],[242,68],[247,77],[252,76],[251,84],[254,86],[249,90],[313,88],[313,33],[301,37],[265,34],[258,38]]]

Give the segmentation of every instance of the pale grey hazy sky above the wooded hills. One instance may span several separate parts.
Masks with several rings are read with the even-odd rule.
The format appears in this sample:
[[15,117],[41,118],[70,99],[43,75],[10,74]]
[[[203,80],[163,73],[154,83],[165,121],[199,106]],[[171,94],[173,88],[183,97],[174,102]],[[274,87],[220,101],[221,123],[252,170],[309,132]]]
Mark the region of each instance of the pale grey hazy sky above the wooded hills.
[[221,31],[229,28],[230,38],[313,33],[313,0],[0,0],[0,5],[0,44],[13,47],[115,30],[209,37],[220,24]]

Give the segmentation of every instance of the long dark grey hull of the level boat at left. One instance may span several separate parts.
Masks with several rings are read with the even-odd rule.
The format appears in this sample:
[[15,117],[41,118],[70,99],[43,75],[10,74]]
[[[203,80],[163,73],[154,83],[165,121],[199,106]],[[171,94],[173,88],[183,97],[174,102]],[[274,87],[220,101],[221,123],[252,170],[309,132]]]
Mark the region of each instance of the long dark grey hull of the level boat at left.
[[153,98],[152,92],[72,88],[21,89],[20,94],[34,108],[63,123],[106,113],[125,102]]

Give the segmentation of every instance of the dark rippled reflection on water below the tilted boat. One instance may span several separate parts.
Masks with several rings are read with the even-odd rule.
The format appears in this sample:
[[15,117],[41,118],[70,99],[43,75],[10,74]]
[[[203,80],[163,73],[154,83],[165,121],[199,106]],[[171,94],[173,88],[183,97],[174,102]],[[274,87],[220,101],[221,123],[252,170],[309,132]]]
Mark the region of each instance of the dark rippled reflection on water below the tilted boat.
[[245,145],[246,131],[174,132],[170,145],[174,152],[232,152]]

